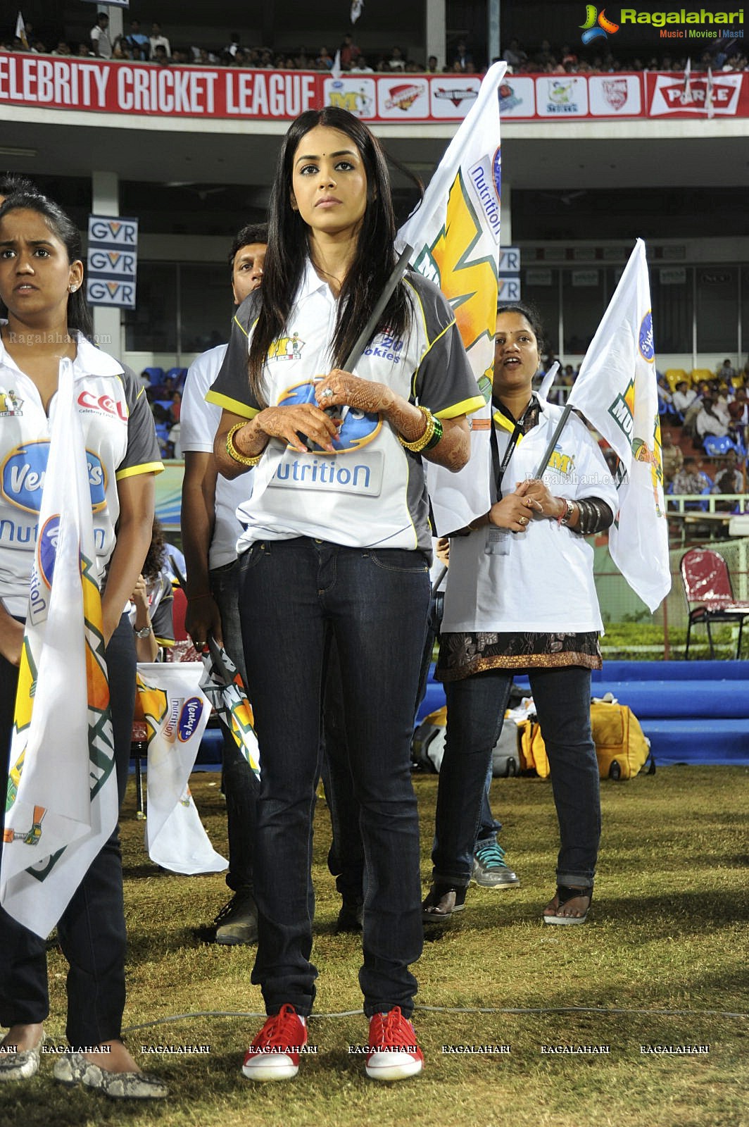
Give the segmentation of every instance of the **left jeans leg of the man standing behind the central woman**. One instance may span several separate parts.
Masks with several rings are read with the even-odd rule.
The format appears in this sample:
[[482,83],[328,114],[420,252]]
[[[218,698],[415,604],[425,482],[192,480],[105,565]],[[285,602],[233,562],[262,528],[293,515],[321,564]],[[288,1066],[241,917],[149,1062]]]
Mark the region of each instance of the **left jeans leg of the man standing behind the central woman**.
[[[248,696],[242,629],[239,621],[239,560],[211,571],[211,591],[221,612],[224,649],[239,669]],[[229,834],[229,871],[226,884],[232,891],[252,890],[255,820],[257,816],[258,780],[237,746],[237,740],[224,731],[223,788],[226,798],[226,829]]]

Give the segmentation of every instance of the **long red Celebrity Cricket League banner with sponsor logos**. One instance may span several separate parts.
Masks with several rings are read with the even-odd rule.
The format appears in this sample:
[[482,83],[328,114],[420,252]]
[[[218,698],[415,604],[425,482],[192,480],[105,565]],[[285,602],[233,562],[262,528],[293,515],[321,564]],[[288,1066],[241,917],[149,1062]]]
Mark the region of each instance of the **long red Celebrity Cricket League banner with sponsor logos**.
[[[0,106],[159,117],[289,121],[306,109],[341,106],[371,123],[462,121],[476,100],[478,74],[356,74],[155,66],[151,63],[0,54]],[[707,74],[506,74],[506,119],[707,116]],[[713,76],[714,115],[749,116],[749,73]]]

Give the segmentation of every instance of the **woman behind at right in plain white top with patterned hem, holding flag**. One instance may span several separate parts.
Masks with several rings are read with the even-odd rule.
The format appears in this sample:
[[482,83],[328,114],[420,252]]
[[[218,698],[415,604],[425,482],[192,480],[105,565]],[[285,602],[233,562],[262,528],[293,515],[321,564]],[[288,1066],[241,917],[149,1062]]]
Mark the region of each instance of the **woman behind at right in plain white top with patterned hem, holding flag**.
[[607,529],[616,490],[586,425],[570,416],[542,480],[534,479],[561,408],[538,400],[541,326],[502,305],[494,337],[489,512],[451,540],[437,677],[447,736],[439,771],[433,887],[425,921],[463,907],[484,780],[515,673],[526,672],[546,744],[561,849],[550,924],[583,923],[600,837],[590,671],[603,630],[585,536]]

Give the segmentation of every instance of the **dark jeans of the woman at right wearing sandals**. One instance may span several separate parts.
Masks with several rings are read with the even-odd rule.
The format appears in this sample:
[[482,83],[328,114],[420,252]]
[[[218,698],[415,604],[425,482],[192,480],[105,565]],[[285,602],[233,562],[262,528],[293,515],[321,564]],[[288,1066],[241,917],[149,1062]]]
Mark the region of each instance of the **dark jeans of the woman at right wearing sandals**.
[[[561,848],[556,882],[591,888],[600,840],[599,774],[590,733],[590,671],[528,669],[551,767]],[[487,669],[445,684],[447,738],[439,770],[434,880],[467,886],[487,767],[502,726],[512,673]]]

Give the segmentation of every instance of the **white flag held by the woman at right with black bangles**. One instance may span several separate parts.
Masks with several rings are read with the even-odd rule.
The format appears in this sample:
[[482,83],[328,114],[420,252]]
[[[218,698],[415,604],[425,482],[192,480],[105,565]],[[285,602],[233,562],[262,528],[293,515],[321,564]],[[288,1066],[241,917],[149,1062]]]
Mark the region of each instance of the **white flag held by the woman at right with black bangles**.
[[637,239],[592,338],[569,403],[580,410],[621,463],[619,511],[609,530],[612,559],[654,611],[671,587],[656,349],[645,245]]

